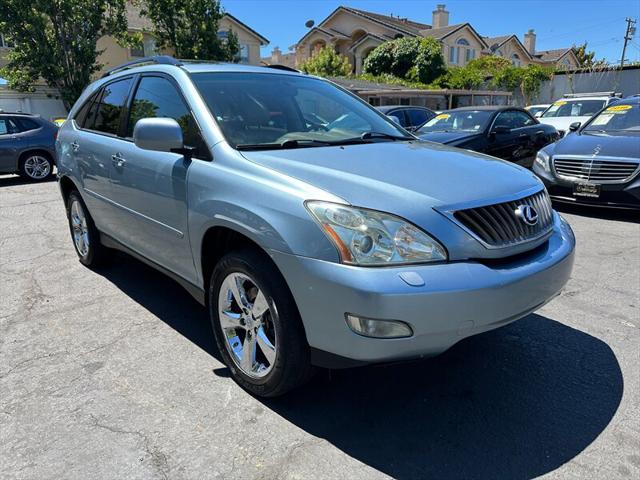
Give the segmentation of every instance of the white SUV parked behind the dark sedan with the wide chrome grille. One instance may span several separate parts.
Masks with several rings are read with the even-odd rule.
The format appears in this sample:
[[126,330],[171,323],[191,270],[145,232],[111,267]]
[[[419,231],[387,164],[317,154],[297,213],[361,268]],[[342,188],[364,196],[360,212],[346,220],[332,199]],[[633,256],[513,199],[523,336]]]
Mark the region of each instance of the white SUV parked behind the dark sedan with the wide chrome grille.
[[604,107],[619,99],[620,94],[613,92],[567,94],[553,102],[538,120],[540,123],[553,125],[560,136],[564,136],[569,131],[569,125],[575,122],[585,123]]

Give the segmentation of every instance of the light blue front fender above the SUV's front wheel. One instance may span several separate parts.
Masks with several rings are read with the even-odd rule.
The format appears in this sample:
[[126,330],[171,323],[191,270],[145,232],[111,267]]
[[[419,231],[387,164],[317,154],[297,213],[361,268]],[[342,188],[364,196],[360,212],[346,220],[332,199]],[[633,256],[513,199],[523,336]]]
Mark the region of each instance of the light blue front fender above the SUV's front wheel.
[[200,279],[202,242],[214,227],[234,230],[265,251],[339,261],[335,246],[304,206],[309,198],[339,199],[225,153],[214,151],[212,162],[194,161],[188,173],[189,238]]

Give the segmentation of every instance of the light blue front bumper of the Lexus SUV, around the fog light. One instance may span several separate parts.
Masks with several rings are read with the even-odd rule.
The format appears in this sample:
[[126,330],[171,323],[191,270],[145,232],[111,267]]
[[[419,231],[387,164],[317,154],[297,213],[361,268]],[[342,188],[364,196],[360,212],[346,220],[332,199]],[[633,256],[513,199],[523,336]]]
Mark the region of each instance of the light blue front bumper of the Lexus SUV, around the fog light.
[[[461,339],[506,325],[544,305],[564,287],[575,238],[554,214],[553,234],[531,252],[501,261],[365,268],[281,252],[272,258],[298,305],[321,366],[386,362],[441,353]],[[415,272],[423,286],[399,274]],[[408,323],[408,338],[376,339],[349,329],[345,313]]]

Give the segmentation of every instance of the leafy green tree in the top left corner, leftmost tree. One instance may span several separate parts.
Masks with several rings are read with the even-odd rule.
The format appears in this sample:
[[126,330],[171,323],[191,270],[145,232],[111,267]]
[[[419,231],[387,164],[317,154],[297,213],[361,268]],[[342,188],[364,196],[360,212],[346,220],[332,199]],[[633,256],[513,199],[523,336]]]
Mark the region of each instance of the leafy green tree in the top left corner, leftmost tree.
[[1,0],[0,31],[15,48],[0,75],[19,91],[42,78],[70,108],[101,67],[98,39],[131,40],[125,9],[126,0]]

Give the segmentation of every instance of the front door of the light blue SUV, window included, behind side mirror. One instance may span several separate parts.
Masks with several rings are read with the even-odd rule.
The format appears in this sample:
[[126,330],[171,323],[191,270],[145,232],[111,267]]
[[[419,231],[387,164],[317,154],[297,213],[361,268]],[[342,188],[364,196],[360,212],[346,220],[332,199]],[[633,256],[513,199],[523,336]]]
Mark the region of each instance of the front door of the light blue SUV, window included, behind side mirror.
[[[196,158],[142,150],[133,143],[138,120],[167,117],[182,127],[185,145],[196,147]],[[120,158],[112,171],[114,198],[123,207],[118,237],[130,248],[186,279],[195,277],[187,232],[187,174],[192,162],[208,159],[200,130],[173,79],[163,74],[141,75],[129,105],[126,141],[109,154]],[[198,159],[198,157],[200,159]]]

